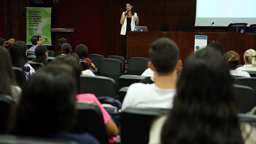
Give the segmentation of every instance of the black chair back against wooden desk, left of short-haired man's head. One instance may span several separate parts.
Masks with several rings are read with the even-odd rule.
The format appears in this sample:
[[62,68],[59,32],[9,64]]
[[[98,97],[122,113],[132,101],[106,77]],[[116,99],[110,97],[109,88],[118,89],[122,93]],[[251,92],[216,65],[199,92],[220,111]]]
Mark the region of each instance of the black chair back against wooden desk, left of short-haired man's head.
[[129,59],[128,75],[141,75],[148,68],[147,58],[132,57]]

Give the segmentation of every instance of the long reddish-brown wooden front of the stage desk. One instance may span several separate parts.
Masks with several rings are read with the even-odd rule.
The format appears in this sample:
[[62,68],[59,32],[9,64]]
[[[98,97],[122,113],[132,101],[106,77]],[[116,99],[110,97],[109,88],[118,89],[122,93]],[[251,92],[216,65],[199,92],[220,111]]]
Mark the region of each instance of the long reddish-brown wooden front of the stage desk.
[[180,59],[185,62],[189,54],[194,52],[195,35],[208,36],[207,43],[213,40],[219,42],[225,52],[237,52],[240,55],[240,64],[244,64],[243,55],[247,49],[256,49],[256,33],[128,31],[127,61],[131,57],[148,58],[150,45],[160,37],[167,37],[178,44]]

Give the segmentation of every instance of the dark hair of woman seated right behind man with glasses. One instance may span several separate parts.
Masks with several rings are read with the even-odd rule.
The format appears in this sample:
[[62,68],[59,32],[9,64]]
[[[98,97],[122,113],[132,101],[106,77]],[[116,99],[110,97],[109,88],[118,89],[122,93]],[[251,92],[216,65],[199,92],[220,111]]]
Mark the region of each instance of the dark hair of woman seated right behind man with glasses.
[[47,52],[47,48],[44,45],[39,45],[35,49],[35,55],[36,58],[33,60],[35,62],[42,62],[44,65],[46,65],[48,62],[46,61],[47,56],[45,55],[45,52]]

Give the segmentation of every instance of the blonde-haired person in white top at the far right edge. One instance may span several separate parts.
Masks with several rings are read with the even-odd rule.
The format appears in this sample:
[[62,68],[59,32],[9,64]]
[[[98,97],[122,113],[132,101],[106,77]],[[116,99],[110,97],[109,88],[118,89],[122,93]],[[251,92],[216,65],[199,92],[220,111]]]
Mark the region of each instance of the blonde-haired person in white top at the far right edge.
[[249,49],[244,52],[244,66],[236,70],[252,70],[256,71],[256,51]]

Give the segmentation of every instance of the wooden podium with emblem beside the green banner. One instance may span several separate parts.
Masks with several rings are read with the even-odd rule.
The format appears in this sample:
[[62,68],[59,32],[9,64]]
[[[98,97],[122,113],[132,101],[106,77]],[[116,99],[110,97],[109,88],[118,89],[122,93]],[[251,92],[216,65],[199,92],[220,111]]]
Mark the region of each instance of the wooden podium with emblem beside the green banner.
[[74,28],[51,28],[52,32],[52,48],[53,51],[61,51],[61,45],[64,43],[71,44],[71,32],[74,32]]

